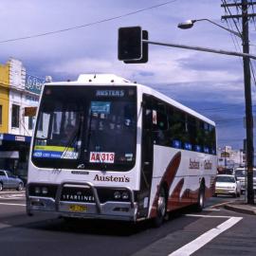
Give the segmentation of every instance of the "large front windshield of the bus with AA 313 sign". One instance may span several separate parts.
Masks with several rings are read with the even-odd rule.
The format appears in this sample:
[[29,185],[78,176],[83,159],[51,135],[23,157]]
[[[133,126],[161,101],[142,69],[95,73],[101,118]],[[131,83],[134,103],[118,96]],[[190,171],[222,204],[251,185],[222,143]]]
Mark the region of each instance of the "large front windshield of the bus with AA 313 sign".
[[128,171],[136,139],[136,87],[46,85],[32,161],[46,168]]

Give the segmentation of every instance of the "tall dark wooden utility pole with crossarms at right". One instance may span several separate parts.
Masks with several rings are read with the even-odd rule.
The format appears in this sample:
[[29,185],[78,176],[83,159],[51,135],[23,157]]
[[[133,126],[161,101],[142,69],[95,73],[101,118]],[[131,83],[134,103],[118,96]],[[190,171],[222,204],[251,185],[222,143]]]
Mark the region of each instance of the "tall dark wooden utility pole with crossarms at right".
[[[248,40],[248,17],[255,17],[255,13],[248,13],[248,8],[256,5],[255,2],[247,2],[242,0],[241,3],[235,1],[232,4],[222,5],[225,9],[229,7],[236,7],[242,10],[242,14],[237,15],[225,15],[222,19],[240,19],[242,18],[242,40],[243,40],[243,53],[249,53],[249,40]],[[245,81],[245,100],[246,100],[246,124],[247,124],[247,203],[254,204],[254,191],[253,191],[253,117],[252,117],[252,105],[251,105],[251,86],[250,86],[250,60],[247,57],[243,57],[244,63],[244,81]]]

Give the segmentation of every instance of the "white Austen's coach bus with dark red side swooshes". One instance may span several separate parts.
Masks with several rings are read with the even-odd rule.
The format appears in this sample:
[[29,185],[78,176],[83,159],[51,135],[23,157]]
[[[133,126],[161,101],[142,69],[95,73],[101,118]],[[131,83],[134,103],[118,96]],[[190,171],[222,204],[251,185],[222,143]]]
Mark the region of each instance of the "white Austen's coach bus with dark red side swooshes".
[[115,75],[49,82],[37,113],[27,214],[139,221],[204,207],[214,192],[215,125]]

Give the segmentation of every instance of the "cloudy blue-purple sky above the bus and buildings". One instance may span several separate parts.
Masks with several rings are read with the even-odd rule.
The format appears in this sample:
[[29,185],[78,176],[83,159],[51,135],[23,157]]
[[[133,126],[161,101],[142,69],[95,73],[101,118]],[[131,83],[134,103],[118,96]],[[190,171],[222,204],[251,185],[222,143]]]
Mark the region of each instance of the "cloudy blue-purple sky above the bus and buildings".
[[[238,37],[207,21],[191,29],[177,27],[189,19],[207,18],[236,30],[232,20],[221,19],[229,14],[221,4],[222,0],[2,0],[0,64],[18,59],[27,74],[51,76],[54,82],[77,80],[82,73],[113,73],[149,85],[215,121],[219,147],[242,149],[246,130],[241,58],[150,45],[146,64],[118,60],[119,27],[140,26],[155,42],[241,51]],[[237,14],[239,9],[230,11]],[[241,29],[241,21],[236,22]],[[256,55],[254,20],[249,22],[249,37],[250,52]],[[255,61],[251,64],[256,70]],[[253,77],[251,91],[255,115]]]

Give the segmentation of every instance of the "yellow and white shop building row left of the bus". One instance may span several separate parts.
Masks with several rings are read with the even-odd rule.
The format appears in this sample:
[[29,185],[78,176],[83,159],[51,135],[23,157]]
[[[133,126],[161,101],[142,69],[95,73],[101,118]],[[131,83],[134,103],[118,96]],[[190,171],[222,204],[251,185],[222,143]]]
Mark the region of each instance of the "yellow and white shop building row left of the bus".
[[0,66],[0,169],[25,179],[35,119],[29,109],[37,107],[43,83],[27,75],[18,60],[10,59]]

